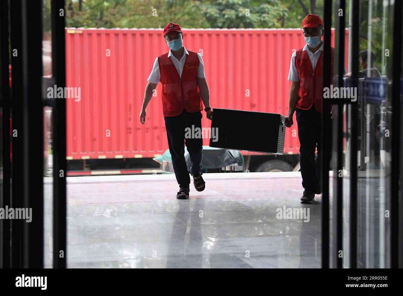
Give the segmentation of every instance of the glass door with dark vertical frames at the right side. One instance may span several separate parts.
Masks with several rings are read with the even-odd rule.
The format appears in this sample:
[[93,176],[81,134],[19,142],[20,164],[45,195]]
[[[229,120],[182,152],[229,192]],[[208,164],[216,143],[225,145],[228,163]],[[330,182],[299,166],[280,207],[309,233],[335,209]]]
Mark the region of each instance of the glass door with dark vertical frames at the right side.
[[[324,232],[329,244],[323,267],[401,267],[402,4],[386,0],[333,4],[334,96],[329,100],[333,144],[329,194],[323,197],[324,204],[329,203],[324,219],[328,218],[330,231],[328,237]],[[343,12],[348,12],[348,19]],[[347,47],[342,37],[346,30]]]

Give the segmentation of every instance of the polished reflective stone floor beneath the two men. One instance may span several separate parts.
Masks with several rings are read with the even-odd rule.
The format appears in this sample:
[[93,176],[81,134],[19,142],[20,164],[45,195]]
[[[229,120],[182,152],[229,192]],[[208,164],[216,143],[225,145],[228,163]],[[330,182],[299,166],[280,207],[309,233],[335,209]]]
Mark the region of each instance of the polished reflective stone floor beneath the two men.
[[[321,199],[300,203],[299,172],[203,177],[189,200],[176,199],[174,175],[67,178],[68,267],[320,267]],[[309,221],[279,217],[284,207],[309,208]]]

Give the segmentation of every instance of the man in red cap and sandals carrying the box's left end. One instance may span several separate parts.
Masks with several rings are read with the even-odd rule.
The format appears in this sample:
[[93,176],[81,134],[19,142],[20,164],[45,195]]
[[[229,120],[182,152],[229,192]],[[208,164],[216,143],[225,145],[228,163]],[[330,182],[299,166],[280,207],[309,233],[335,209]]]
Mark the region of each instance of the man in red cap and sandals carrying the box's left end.
[[[204,75],[201,54],[183,46],[183,33],[178,24],[169,23],[164,28],[164,40],[170,50],[158,56],[145,87],[140,122],[145,123],[145,109],[153,93],[162,83],[162,112],[172,166],[179,184],[177,199],[189,198],[190,177],[185,161],[185,146],[190,156],[190,173],[197,191],[206,188],[202,178],[203,139],[197,133],[185,139],[185,130],[202,128],[203,104],[211,120],[210,93]],[[193,128],[192,128],[193,127]],[[199,133],[200,135],[201,133]]]

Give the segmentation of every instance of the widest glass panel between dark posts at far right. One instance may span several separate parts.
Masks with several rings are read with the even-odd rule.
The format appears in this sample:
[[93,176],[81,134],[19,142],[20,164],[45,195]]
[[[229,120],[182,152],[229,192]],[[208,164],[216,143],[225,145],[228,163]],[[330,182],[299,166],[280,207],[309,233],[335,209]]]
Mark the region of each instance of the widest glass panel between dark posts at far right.
[[385,110],[391,98],[386,93],[390,77],[382,76],[393,61],[393,57],[385,57],[386,41],[393,38],[393,30],[386,28],[387,8],[385,1],[361,1],[360,52],[359,61],[356,61],[360,65],[361,88],[358,99],[361,138],[357,151],[360,160],[357,180],[357,238],[360,248],[357,267],[363,268],[390,266],[387,256],[390,246],[386,239],[390,219],[385,218],[385,211],[389,208],[387,188],[390,187],[391,151],[386,147],[390,126]]

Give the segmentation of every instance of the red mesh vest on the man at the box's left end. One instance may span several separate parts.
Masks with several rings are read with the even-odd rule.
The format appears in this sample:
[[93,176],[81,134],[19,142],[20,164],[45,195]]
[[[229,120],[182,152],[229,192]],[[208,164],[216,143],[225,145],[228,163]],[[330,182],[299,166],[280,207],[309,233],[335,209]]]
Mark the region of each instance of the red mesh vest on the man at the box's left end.
[[196,52],[188,50],[185,65],[183,66],[182,79],[172,63],[168,52],[158,56],[162,83],[162,112],[164,116],[175,116],[181,114],[183,108],[187,112],[199,112],[203,110],[202,97],[197,86],[197,68],[199,58]]

